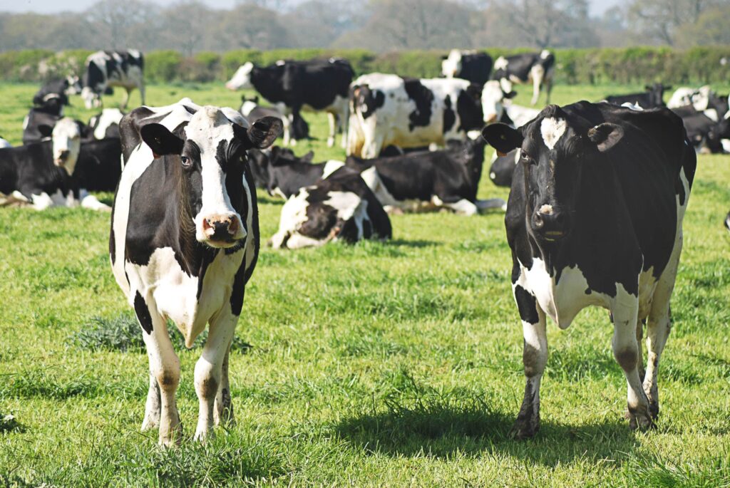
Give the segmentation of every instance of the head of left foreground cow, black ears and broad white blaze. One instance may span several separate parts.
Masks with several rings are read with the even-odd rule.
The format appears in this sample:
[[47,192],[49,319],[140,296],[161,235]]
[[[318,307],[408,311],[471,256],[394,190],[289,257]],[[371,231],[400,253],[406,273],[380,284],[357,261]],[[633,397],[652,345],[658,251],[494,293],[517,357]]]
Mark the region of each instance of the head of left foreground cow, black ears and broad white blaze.
[[247,236],[254,191],[244,175],[247,150],[264,148],[282,131],[281,120],[264,117],[246,130],[221,109],[204,106],[174,133],[164,125],[140,129],[155,158],[165,157],[180,169],[181,208],[195,225],[196,240],[210,247],[233,247]]

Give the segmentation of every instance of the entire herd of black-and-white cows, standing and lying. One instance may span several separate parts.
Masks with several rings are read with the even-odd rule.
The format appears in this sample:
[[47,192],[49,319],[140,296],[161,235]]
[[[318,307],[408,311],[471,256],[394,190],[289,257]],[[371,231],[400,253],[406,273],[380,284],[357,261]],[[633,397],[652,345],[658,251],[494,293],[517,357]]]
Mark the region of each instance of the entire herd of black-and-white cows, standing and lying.
[[[546,317],[567,328],[593,305],[610,311],[629,423],[653,426],[696,150],[723,151],[727,97],[682,88],[666,108],[666,87],[652,85],[608,103],[538,110],[513,104],[513,88],[531,83],[533,104],[541,90],[549,99],[552,53],[493,61],[453,50],[434,79],[356,77],[335,58],[245,63],[226,87],[256,90],[269,106],[243,98],[235,110],[183,98],[155,107],[144,105],[142,59],[137,51],[100,51],[89,56],[80,84],[44,85],[23,125],[23,146],[0,149],[0,192],[6,204],[104,210],[88,192],[115,190],[112,271],[150,361],[142,428],[158,428],[161,444],[182,432],[180,360],[167,319],[188,346],[210,325],[194,372],[195,438],[233,419],[228,352],[258,259],[256,187],[285,198],[269,239],[277,249],[389,239],[393,212],[502,209],[524,337],[515,435],[539,429]],[[104,109],[88,123],[63,116],[69,95],[101,106],[111,86],[126,88],[125,105],[139,89],[143,105],[126,115]],[[341,133],[345,160],[314,163],[311,152],[298,157],[272,145],[280,135],[284,146],[308,137],[307,111],[327,113],[328,145]],[[491,180],[511,188],[507,202],[477,198],[486,144],[496,150]],[[644,325],[647,363],[637,340]]]

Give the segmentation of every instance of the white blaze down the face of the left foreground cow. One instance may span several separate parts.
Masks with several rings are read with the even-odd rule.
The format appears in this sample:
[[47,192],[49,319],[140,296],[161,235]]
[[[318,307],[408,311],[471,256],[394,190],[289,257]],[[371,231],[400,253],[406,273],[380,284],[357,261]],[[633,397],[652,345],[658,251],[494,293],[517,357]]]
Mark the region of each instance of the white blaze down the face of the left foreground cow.
[[[218,144],[234,138],[233,126],[226,115],[215,106],[204,106],[191,117],[190,123],[185,126],[186,139],[195,142],[200,148],[201,180],[203,186],[200,212],[193,217],[196,228],[196,239],[207,241],[204,233],[203,221],[206,218],[234,216],[238,222],[242,235],[235,236],[242,239],[245,236],[240,215],[231,205],[231,199],[226,191],[226,173],[215,159]],[[246,185],[245,181],[242,185]]]

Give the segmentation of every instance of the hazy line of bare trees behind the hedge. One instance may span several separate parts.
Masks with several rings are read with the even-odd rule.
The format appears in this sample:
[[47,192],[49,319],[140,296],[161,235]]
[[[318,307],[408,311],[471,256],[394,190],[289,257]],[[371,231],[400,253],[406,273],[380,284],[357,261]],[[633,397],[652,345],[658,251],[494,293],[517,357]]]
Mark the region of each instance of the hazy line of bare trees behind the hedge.
[[730,0],[626,0],[600,18],[588,0],[101,0],[84,12],[0,12],[0,51],[282,48],[693,47],[730,44]]

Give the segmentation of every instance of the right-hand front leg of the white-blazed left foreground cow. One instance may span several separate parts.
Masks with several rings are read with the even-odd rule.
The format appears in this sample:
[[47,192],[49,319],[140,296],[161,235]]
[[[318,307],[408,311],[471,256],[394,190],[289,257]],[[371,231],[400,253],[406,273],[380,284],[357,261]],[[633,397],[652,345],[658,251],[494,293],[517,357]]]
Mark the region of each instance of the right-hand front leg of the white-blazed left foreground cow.
[[203,353],[195,364],[195,391],[198,394],[199,414],[198,427],[195,431],[196,441],[204,441],[211,433],[215,397],[218,395],[221,382],[223,361],[231,346],[238,317],[230,309],[221,311],[210,321],[208,338]]

